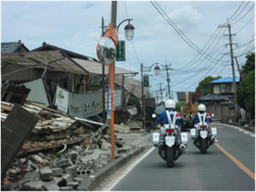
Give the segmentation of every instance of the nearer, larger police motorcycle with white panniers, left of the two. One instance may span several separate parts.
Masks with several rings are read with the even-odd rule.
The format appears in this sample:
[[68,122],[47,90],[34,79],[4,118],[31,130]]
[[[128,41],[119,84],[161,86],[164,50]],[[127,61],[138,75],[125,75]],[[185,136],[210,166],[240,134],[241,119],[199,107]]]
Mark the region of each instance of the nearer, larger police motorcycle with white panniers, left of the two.
[[[169,114],[168,111],[166,112]],[[180,119],[180,116],[176,116],[176,112],[174,115],[176,117],[174,122],[171,121],[170,114],[167,115],[169,124],[164,124],[160,133],[153,133],[152,139],[152,144],[161,149],[159,155],[166,161],[167,167],[173,167],[177,158],[186,154],[188,145],[187,133],[180,133],[180,126],[176,125],[176,119]]]

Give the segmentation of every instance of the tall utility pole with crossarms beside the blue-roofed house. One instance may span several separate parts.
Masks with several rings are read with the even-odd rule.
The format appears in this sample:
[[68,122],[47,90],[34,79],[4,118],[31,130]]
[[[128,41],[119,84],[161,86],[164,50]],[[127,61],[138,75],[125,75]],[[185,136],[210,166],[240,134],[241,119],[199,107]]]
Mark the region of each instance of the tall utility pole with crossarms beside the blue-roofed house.
[[[219,26],[220,27],[220,26]],[[238,117],[238,104],[237,104],[237,84],[236,84],[236,75],[235,75],[235,67],[234,67],[234,57],[233,57],[233,43],[232,43],[232,36],[235,36],[236,34],[231,34],[231,27],[228,20],[228,25],[221,26],[221,27],[229,27],[229,34],[224,36],[229,36],[229,45],[230,47],[230,57],[231,57],[231,67],[232,67],[232,75],[233,75],[233,89],[234,89],[234,104],[235,104],[235,117]]]

